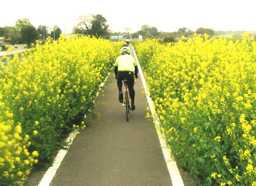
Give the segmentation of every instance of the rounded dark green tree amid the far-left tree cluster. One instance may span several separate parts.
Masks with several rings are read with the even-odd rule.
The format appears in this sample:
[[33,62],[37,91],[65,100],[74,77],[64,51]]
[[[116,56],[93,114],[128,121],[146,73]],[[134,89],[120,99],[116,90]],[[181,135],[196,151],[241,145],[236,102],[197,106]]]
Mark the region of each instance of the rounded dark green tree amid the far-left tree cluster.
[[38,38],[38,31],[36,31],[36,28],[30,24],[21,28],[20,35],[22,42],[30,46],[30,44],[34,43]]

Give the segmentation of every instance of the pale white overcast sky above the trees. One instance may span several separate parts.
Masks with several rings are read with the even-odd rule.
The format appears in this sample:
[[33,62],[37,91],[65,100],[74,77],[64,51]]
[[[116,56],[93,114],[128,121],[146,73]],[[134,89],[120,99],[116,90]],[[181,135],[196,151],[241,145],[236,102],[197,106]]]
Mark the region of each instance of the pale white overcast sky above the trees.
[[143,24],[165,32],[183,27],[256,31],[255,5],[255,0],[11,0],[0,2],[0,27],[29,19],[36,28],[56,25],[71,34],[79,16],[101,14],[113,32],[137,32]]

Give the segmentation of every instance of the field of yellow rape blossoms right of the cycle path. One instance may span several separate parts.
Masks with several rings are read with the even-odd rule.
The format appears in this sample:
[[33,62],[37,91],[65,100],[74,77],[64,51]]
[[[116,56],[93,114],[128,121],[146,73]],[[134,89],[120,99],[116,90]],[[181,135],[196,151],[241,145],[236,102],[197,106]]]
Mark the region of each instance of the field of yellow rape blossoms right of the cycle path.
[[162,133],[198,185],[256,185],[256,42],[243,37],[135,47]]

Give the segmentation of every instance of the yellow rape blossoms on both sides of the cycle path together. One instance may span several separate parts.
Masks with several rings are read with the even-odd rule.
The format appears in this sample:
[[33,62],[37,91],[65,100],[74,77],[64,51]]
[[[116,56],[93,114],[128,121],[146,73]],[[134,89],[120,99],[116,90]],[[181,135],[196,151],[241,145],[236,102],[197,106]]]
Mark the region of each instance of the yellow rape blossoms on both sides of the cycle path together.
[[[256,42],[207,35],[135,47],[168,144],[198,185],[256,186]],[[74,128],[85,128],[122,43],[48,40],[0,71],[0,183],[48,166]],[[3,57],[4,58],[4,57]]]

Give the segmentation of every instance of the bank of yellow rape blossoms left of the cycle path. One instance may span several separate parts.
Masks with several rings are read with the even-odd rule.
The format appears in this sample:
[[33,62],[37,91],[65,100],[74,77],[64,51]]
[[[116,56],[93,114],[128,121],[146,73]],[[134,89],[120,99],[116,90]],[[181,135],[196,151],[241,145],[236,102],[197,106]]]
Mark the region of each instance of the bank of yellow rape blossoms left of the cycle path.
[[[0,183],[48,166],[74,127],[85,127],[119,44],[75,36],[18,55],[0,71]],[[5,57],[3,57],[5,58]]]

